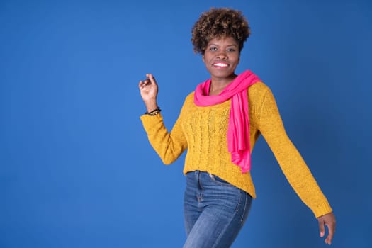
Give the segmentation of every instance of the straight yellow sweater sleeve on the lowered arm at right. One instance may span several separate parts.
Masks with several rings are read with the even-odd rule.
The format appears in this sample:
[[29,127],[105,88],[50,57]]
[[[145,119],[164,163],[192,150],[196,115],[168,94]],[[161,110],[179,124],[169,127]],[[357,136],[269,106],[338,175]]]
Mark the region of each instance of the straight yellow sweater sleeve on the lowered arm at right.
[[269,88],[261,106],[259,130],[274,153],[283,174],[293,190],[307,205],[315,217],[332,212],[303,157],[295,148],[284,129],[276,101]]

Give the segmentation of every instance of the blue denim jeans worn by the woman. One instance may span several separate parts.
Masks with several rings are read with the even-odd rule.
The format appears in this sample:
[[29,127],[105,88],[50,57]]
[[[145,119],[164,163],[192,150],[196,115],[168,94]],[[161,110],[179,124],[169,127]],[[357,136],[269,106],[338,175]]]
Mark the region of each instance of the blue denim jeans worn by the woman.
[[186,174],[184,248],[230,247],[242,229],[252,196],[203,171]]

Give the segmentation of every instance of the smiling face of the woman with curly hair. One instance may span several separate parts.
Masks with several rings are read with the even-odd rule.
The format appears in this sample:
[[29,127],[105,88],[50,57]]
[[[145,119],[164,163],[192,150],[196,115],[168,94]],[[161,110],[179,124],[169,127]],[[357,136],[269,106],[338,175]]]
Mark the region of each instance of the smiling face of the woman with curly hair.
[[239,57],[239,45],[234,38],[213,38],[205,48],[203,62],[212,81],[232,81]]

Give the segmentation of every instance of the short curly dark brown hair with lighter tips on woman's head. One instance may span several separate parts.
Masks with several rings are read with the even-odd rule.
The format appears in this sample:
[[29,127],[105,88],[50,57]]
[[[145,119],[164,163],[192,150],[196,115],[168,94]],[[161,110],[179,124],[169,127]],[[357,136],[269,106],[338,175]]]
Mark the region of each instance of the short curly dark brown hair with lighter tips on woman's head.
[[193,51],[204,55],[208,42],[213,38],[232,37],[242,51],[244,42],[249,38],[249,22],[241,11],[229,8],[211,8],[201,13],[191,30]]

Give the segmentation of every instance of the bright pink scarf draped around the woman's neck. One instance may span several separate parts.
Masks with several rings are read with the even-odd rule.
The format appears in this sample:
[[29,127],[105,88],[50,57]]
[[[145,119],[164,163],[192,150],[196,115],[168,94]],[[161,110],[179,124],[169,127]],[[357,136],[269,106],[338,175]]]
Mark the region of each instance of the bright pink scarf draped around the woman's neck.
[[251,169],[247,90],[257,81],[261,81],[259,77],[247,70],[239,74],[218,96],[208,96],[211,83],[211,80],[208,79],[196,86],[193,98],[196,106],[212,106],[231,98],[227,149],[231,153],[231,162],[241,167],[242,173]]

